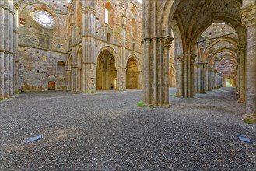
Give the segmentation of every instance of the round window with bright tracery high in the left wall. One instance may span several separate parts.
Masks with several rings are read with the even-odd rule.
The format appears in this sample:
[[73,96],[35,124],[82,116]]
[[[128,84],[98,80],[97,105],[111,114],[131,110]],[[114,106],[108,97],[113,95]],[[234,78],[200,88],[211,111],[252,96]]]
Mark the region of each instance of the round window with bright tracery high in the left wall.
[[37,23],[39,23],[41,26],[44,26],[47,28],[54,27],[55,25],[54,18],[51,16],[49,12],[39,9],[33,12],[33,15]]

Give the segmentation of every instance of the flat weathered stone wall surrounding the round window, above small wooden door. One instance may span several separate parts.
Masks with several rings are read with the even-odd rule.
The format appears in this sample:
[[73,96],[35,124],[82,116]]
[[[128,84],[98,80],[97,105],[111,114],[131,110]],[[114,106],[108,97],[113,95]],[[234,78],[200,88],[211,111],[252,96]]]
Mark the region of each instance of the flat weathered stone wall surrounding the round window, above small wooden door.
[[[19,18],[19,88],[22,91],[47,90],[49,77],[56,89],[65,89],[65,77],[58,77],[58,61],[66,61],[68,40],[66,1],[21,1]],[[54,18],[55,26],[45,28],[33,19],[43,9]]]

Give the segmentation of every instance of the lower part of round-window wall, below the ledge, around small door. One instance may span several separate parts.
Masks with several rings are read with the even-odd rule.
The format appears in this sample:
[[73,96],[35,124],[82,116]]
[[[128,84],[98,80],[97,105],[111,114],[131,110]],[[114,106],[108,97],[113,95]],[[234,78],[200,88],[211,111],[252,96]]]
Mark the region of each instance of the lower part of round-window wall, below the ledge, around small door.
[[47,90],[50,75],[56,78],[56,88],[65,89],[63,79],[58,80],[58,61],[66,54],[19,46],[19,86],[22,91]]

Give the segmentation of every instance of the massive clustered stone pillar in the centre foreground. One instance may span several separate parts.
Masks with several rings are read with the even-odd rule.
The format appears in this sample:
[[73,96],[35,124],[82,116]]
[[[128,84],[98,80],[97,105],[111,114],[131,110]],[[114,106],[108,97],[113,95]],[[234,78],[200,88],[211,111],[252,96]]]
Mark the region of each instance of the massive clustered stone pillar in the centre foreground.
[[[163,42],[173,39],[170,37],[169,27],[164,28],[163,34],[156,34],[152,26],[158,28],[158,10],[155,9],[156,1],[143,1],[142,9],[142,35],[143,35],[143,60],[144,60],[144,82],[145,82],[145,105],[146,106],[164,106],[167,104],[164,100],[164,75],[166,64],[163,61]],[[158,8],[158,7],[157,7]],[[148,15],[150,13],[150,15]],[[159,36],[160,35],[160,36]],[[169,66],[168,66],[169,71]],[[168,72],[169,73],[169,72]],[[169,79],[168,79],[169,80]],[[143,91],[144,92],[144,91]]]

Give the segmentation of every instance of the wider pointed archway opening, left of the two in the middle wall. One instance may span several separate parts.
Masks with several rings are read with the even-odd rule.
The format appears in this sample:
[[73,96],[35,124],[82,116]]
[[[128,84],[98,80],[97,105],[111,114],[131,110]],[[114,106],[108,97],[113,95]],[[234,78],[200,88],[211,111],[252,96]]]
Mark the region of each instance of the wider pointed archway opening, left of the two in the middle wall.
[[99,54],[96,68],[96,89],[115,90],[117,89],[117,69],[115,68],[113,54],[104,50]]

